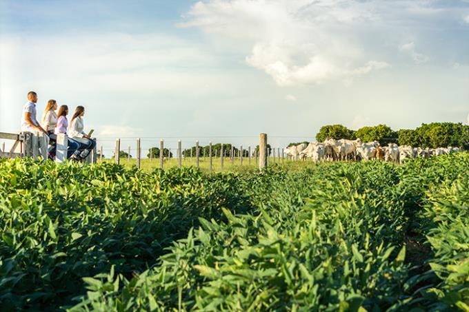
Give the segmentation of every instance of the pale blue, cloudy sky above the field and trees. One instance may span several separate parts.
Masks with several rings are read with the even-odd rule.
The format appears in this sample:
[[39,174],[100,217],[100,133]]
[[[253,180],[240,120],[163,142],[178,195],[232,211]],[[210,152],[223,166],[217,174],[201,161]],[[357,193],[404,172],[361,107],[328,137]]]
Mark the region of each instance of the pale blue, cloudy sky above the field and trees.
[[108,156],[468,123],[469,0],[0,0],[0,132],[30,90],[85,106]]

